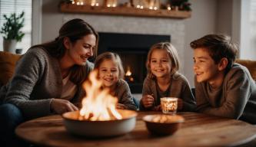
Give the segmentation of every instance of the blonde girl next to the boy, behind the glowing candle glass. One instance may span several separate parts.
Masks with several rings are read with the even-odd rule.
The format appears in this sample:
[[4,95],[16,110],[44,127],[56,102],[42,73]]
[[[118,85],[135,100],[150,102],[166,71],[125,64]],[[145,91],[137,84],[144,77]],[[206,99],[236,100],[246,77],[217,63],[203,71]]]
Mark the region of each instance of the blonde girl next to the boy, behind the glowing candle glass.
[[178,110],[193,111],[194,96],[188,80],[178,73],[178,53],[168,42],[155,44],[148,52],[148,75],[143,83],[141,110],[161,110],[161,97],[178,97]]

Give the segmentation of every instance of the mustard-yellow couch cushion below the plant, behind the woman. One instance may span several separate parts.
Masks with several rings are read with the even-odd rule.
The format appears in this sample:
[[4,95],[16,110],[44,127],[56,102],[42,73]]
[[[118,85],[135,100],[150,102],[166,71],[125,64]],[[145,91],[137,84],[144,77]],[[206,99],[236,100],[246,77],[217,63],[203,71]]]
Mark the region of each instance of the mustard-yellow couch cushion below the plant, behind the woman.
[[22,55],[0,51],[0,83],[2,85],[5,85],[12,77],[16,62],[20,57],[22,57]]

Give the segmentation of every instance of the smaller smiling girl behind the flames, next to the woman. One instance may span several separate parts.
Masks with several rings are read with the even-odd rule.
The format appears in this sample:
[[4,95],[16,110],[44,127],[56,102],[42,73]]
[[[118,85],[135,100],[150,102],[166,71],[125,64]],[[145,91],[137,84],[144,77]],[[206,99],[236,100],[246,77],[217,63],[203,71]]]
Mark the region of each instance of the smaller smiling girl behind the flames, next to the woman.
[[98,77],[103,81],[103,88],[108,87],[111,95],[118,97],[118,109],[137,109],[128,83],[122,80],[124,69],[118,54],[105,52],[95,60],[95,69],[98,70]]

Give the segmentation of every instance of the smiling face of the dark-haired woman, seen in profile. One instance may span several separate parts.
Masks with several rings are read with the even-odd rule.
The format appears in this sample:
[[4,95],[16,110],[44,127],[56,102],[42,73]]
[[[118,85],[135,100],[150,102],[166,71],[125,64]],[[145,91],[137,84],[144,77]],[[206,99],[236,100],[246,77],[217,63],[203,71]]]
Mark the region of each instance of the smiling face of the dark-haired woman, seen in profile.
[[95,50],[96,37],[94,34],[88,34],[79,39],[75,44],[71,44],[68,38],[65,40],[67,55],[71,64],[85,65],[88,57],[93,56]]

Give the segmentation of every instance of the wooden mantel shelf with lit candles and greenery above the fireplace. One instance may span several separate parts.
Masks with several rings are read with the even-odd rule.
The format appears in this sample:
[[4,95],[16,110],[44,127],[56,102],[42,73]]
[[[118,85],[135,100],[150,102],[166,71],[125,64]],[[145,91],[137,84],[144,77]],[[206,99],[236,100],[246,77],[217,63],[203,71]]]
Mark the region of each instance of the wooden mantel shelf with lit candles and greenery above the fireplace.
[[[102,2],[103,1],[103,2]],[[62,0],[60,11],[96,15],[128,15],[157,18],[190,18],[188,0],[130,0],[119,4],[118,0]]]

